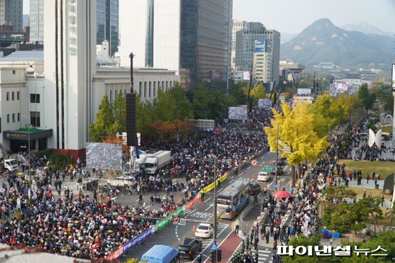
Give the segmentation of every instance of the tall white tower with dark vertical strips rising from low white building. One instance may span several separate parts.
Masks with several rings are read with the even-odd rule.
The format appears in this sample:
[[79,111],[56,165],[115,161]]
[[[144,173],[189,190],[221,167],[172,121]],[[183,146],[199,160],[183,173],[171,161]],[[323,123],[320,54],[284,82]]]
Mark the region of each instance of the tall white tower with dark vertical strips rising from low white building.
[[[44,0],[44,126],[53,148],[85,148],[94,119],[96,0]],[[70,153],[70,152],[69,152]]]

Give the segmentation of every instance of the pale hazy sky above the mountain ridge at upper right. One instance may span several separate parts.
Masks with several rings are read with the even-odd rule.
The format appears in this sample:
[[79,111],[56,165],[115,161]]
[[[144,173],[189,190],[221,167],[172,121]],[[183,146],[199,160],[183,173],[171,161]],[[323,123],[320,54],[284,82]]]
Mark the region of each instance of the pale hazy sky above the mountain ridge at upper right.
[[394,0],[233,0],[233,17],[281,33],[300,33],[320,18],[336,26],[365,21],[395,33]]

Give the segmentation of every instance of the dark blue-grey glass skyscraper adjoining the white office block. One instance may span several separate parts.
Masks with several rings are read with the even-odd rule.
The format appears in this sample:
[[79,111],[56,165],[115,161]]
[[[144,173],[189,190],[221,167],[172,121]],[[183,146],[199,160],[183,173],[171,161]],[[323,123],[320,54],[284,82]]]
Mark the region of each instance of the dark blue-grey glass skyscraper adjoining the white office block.
[[225,87],[229,72],[232,0],[182,0],[181,63],[192,83]]

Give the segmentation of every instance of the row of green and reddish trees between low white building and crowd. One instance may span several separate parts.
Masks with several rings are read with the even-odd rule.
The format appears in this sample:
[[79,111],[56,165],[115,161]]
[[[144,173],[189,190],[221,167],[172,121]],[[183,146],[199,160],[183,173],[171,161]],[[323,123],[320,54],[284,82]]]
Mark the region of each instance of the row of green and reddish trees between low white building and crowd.
[[[193,127],[185,119],[227,118],[228,107],[246,104],[247,92],[247,82],[235,84],[229,96],[204,86],[185,91],[176,83],[168,91],[158,89],[158,96],[152,102],[137,96],[137,131],[145,140],[169,143],[190,134]],[[258,99],[267,97],[265,88],[257,85],[252,97],[254,105],[257,105]],[[116,132],[123,131],[126,131],[125,96],[123,93],[116,94],[112,103],[107,95],[103,96],[96,120],[89,125],[90,140],[103,142]]]

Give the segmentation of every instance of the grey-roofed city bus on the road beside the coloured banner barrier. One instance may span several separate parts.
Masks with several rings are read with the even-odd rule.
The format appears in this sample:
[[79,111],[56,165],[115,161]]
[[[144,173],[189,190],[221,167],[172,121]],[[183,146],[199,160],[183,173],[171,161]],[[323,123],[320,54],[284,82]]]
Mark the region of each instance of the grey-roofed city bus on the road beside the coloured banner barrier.
[[233,219],[249,203],[249,183],[234,181],[218,194],[217,206],[221,219]]

